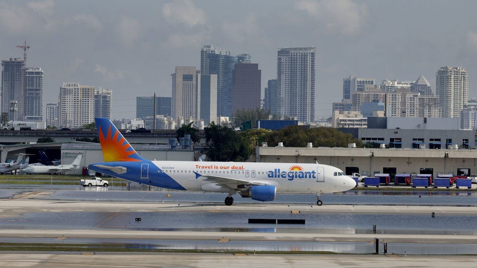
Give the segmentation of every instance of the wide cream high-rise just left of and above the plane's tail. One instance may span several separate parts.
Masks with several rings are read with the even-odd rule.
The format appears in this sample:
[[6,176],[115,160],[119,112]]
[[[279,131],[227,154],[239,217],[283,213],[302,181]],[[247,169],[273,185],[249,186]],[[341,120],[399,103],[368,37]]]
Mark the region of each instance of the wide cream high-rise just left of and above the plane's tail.
[[59,88],[59,127],[80,128],[94,122],[94,87],[63,83]]

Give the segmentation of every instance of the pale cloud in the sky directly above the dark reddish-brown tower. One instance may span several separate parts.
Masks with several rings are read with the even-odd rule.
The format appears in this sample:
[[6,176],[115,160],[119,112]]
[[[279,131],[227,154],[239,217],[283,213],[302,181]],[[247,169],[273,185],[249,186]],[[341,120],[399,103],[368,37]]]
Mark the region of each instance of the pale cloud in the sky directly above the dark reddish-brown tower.
[[261,34],[261,28],[254,15],[249,15],[239,22],[225,22],[223,23],[222,31],[233,42],[239,43],[250,42],[250,40],[259,42],[265,38]]

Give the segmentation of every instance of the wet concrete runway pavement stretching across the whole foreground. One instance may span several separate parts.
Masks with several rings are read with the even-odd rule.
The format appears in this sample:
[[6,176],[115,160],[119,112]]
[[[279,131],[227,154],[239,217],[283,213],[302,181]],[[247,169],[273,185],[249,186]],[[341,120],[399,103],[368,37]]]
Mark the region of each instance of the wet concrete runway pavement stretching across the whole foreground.
[[[101,191],[103,191],[101,189]],[[112,198],[120,195],[126,201]],[[379,239],[379,255],[339,255],[340,259],[320,255],[218,255],[218,260],[233,262],[233,267],[243,267],[253,261],[269,266],[267,258],[280,260],[278,267],[324,264],[355,266],[364,261],[365,266],[455,266],[456,261],[467,257],[436,258],[435,255],[477,254],[477,233],[473,222],[477,222],[474,205],[363,205],[363,204],[285,204],[285,203],[241,203],[232,206],[221,202],[191,202],[181,200],[148,199],[150,193],[120,191],[89,195],[85,191],[15,191],[8,198],[0,199],[0,239],[13,243],[70,243],[70,244],[123,244],[125,248],[173,249],[173,250],[227,250],[237,252],[258,251],[307,251],[336,253],[374,253],[375,239]],[[8,193],[3,193],[4,196]],[[58,198],[58,196],[69,196]],[[337,198],[342,197],[337,196]],[[139,197],[139,198],[138,198]],[[193,196],[196,197],[196,196]],[[362,196],[360,196],[362,197]],[[334,198],[329,196],[329,199]],[[347,196],[347,198],[350,198]],[[375,197],[373,197],[375,198]],[[386,198],[386,197],[385,197]],[[416,200],[409,195],[408,199]],[[452,196],[429,197],[425,202]],[[473,195],[460,197],[473,200]],[[424,199],[424,198],[419,198]],[[238,199],[240,200],[240,199]],[[404,200],[403,203],[409,201]],[[412,201],[414,202],[414,201]],[[460,201],[466,203],[466,201]],[[472,203],[473,201],[470,201]],[[435,217],[432,217],[432,213]],[[140,217],[141,221],[135,221]],[[306,219],[306,224],[250,224],[248,218]],[[372,223],[378,225],[372,231]],[[414,224],[411,224],[413,223]],[[421,225],[425,225],[421,227]],[[426,226],[430,226],[430,229]],[[454,231],[455,230],[455,231]],[[396,258],[382,257],[384,243],[388,254]],[[122,259],[123,253],[97,253],[94,257],[81,255],[86,252],[38,253],[28,255],[32,263],[48,263],[52,267],[68,262],[80,265],[81,259]],[[1,266],[27,265],[15,262],[15,254],[0,254]],[[432,257],[409,255],[434,255]],[[134,266],[137,256],[144,256],[138,266],[174,266],[175,254],[134,253],[134,257],[111,262],[106,266]],[[205,265],[214,254],[180,257],[186,262],[182,266]],[[258,256],[258,257],[257,257]],[[334,255],[335,256],[335,255]],[[31,257],[31,258],[30,258]],[[160,258],[160,261],[158,261]],[[188,259],[189,258],[189,259]],[[412,261],[408,261],[409,259]],[[25,258],[24,258],[25,259]],[[148,260],[151,262],[148,262]],[[260,260],[263,261],[260,261]],[[396,259],[399,259],[396,262]],[[429,263],[428,261],[432,259]],[[56,261],[61,260],[56,263]],[[425,261],[427,260],[427,261]],[[453,261],[452,261],[453,260]],[[64,262],[63,262],[64,261]],[[154,262],[156,261],[156,262]],[[163,262],[161,262],[163,261]],[[281,262],[282,261],[282,262]],[[422,262],[420,262],[422,261]],[[76,263],[78,262],[78,263]],[[5,263],[5,265],[4,265]],[[16,263],[15,265],[13,265]],[[21,264],[20,264],[21,263]],[[216,267],[220,261],[214,262]],[[281,263],[281,264],[280,264]],[[388,264],[386,264],[388,263]],[[392,265],[389,265],[392,263]],[[459,266],[475,266],[473,262],[462,262]],[[159,265],[161,264],[161,265]],[[223,264],[223,263],[222,263]],[[267,265],[268,264],[268,265]],[[376,265],[375,265],[376,264]],[[212,265],[212,266],[214,266]],[[28,265],[27,265],[28,266]],[[63,265],[64,266],[64,265]],[[102,265],[101,265],[102,266]],[[231,265],[228,265],[231,266]],[[445,265],[443,265],[445,266]]]

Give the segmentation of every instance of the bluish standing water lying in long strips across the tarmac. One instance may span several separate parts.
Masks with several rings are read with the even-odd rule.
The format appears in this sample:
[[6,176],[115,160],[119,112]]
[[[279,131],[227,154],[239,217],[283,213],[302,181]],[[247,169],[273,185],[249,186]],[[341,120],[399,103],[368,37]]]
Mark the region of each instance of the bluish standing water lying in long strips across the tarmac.
[[[127,189],[54,187],[42,185],[23,189],[5,187],[0,189],[0,198],[8,199],[27,191],[48,194],[32,196],[32,199],[59,201],[95,202],[199,202],[222,203],[224,194],[203,194],[175,191],[127,191]],[[170,195],[170,196],[169,196]],[[266,204],[314,204],[315,195],[277,195],[277,200]],[[326,204],[346,205],[409,205],[409,206],[451,206],[476,207],[477,192],[439,191],[348,191],[341,194],[323,195]],[[247,198],[235,198],[234,205],[259,203]],[[411,209],[410,209],[411,210]],[[309,234],[372,234],[372,226],[377,226],[380,234],[415,235],[456,235],[476,236],[477,214],[429,214],[413,213],[319,213],[302,211],[251,212],[230,211],[178,211],[178,212],[48,212],[25,213],[21,216],[0,218],[0,229],[41,229],[41,230],[140,230],[150,232],[194,231],[194,232],[257,232],[257,233],[309,233]],[[136,221],[141,218],[141,221]],[[304,219],[305,224],[250,224],[250,218]],[[200,249],[200,250],[247,250],[247,251],[331,251],[336,253],[374,253],[374,241],[368,242],[328,242],[328,241],[226,241],[217,240],[163,240],[163,239],[121,239],[121,238],[54,238],[3,237],[3,242],[39,243],[116,243],[125,248],[147,249]],[[383,244],[380,243],[380,252]],[[477,254],[474,243],[406,243],[388,245],[388,253],[397,254]]]

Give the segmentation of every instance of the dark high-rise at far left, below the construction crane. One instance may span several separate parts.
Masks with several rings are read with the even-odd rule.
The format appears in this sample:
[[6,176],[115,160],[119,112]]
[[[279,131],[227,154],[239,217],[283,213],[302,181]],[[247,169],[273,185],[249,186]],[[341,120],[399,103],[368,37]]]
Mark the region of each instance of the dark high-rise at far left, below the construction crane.
[[10,120],[24,120],[25,65],[23,60],[2,60],[2,112]]

